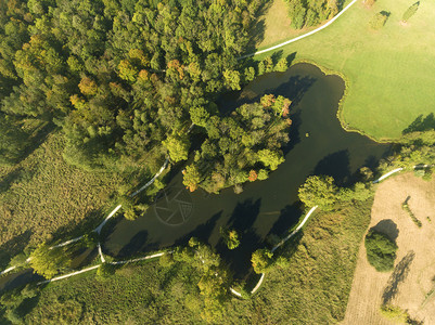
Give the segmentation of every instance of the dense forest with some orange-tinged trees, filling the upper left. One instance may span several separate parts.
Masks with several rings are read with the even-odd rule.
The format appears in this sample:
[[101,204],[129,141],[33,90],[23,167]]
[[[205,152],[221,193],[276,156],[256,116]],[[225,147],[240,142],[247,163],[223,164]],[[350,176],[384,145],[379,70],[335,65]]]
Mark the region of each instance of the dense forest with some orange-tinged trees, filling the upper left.
[[236,57],[261,3],[0,1],[0,162],[21,158],[38,122],[87,170],[185,159],[189,127],[245,79]]

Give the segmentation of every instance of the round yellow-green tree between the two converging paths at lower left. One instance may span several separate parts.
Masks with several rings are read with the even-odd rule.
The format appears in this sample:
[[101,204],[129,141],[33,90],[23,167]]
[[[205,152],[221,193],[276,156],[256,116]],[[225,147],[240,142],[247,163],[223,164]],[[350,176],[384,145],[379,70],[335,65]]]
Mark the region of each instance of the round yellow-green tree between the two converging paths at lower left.
[[30,266],[39,275],[52,278],[71,266],[71,253],[64,247],[50,249],[46,243],[40,244],[30,253]]

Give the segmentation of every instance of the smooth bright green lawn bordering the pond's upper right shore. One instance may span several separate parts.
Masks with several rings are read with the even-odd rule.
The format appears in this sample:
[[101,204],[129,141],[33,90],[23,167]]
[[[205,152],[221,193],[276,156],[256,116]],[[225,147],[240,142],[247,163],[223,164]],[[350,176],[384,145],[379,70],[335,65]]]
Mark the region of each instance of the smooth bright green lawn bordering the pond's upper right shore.
[[[420,115],[435,113],[435,48],[431,46],[435,2],[421,1],[415,15],[401,25],[404,12],[413,3],[379,0],[369,10],[358,1],[324,30],[276,52],[295,53],[296,60],[344,75],[348,93],[343,123],[376,140],[397,139]],[[372,30],[369,22],[381,11],[391,15],[381,30]]]

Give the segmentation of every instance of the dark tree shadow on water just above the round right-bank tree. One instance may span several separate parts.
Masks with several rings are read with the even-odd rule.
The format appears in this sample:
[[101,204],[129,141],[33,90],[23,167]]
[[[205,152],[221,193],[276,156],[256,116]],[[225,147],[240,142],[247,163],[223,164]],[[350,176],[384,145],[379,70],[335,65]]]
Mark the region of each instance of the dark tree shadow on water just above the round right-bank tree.
[[349,152],[344,150],[323,157],[317,162],[314,173],[333,177],[340,186],[348,184],[351,177]]

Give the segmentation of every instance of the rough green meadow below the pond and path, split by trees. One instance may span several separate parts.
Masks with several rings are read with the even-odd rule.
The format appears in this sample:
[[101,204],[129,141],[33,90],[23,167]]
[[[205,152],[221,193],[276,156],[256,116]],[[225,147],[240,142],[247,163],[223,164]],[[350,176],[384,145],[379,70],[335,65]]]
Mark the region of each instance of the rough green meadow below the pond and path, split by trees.
[[[319,212],[251,299],[229,297],[219,324],[332,324],[345,315],[372,202]],[[48,285],[25,315],[33,324],[203,324],[199,274],[154,260],[99,281],[88,273]]]

